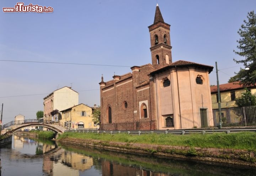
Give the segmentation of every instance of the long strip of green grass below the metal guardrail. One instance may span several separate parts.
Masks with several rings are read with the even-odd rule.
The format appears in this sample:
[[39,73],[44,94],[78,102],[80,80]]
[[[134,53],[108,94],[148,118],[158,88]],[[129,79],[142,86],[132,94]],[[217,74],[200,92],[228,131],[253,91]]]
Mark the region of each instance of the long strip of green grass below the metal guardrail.
[[97,134],[65,132],[61,138],[98,139],[101,141],[146,143],[201,148],[245,149],[256,151],[256,133],[213,133],[213,134]]

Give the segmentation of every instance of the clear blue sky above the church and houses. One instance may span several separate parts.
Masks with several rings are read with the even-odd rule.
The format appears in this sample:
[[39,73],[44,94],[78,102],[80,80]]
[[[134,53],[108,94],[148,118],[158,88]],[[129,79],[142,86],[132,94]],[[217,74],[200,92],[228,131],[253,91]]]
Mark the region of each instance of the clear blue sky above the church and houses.
[[[117,65],[92,66],[0,61],[0,105],[3,123],[18,114],[25,119],[43,110],[43,98],[64,86],[79,92],[79,103],[100,105],[99,82],[151,63],[148,26],[156,0],[34,1],[53,13],[4,13],[14,0],[1,0],[0,60]],[[158,0],[164,21],[171,25],[172,60],[214,66],[210,84],[228,82],[240,67],[237,34],[255,0]],[[128,66],[128,67],[120,67]],[[20,96],[29,95],[29,96]]]

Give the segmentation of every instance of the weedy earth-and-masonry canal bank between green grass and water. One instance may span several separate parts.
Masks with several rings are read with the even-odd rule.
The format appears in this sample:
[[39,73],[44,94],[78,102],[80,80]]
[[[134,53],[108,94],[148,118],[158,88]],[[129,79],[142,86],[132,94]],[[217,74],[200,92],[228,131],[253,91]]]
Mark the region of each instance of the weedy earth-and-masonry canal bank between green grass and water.
[[99,141],[93,139],[78,138],[65,138],[57,141],[103,148],[111,151],[120,151],[123,153],[154,155],[161,158],[179,158],[209,164],[256,167],[255,152],[247,150],[181,147],[142,143]]

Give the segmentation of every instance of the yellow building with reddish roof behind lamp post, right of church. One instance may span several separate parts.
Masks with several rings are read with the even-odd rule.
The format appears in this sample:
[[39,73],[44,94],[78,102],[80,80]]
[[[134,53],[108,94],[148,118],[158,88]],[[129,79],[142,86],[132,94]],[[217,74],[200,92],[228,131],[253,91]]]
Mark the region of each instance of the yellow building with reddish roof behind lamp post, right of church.
[[[256,86],[246,86],[248,90],[251,91],[252,95],[256,96]],[[235,104],[235,99],[241,97],[242,93],[245,93],[245,88],[239,82],[232,82],[226,84],[220,84],[220,105],[221,108],[231,108],[237,107]],[[211,86],[211,96],[212,96],[212,109],[218,109],[218,89],[217,86]]]

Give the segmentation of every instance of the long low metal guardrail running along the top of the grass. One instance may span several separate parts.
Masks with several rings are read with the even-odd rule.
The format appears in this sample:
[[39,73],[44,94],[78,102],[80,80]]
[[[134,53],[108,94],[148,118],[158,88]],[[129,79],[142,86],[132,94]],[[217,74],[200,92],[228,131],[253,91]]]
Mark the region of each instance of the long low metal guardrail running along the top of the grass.
[[222,129],[186,129],[186,130],[65,130],[65,132],[75,133],[107,133],[107,134],[211,134],[211,133],[235,133],[242,131],[256,132],[256,128],[222,128]]

